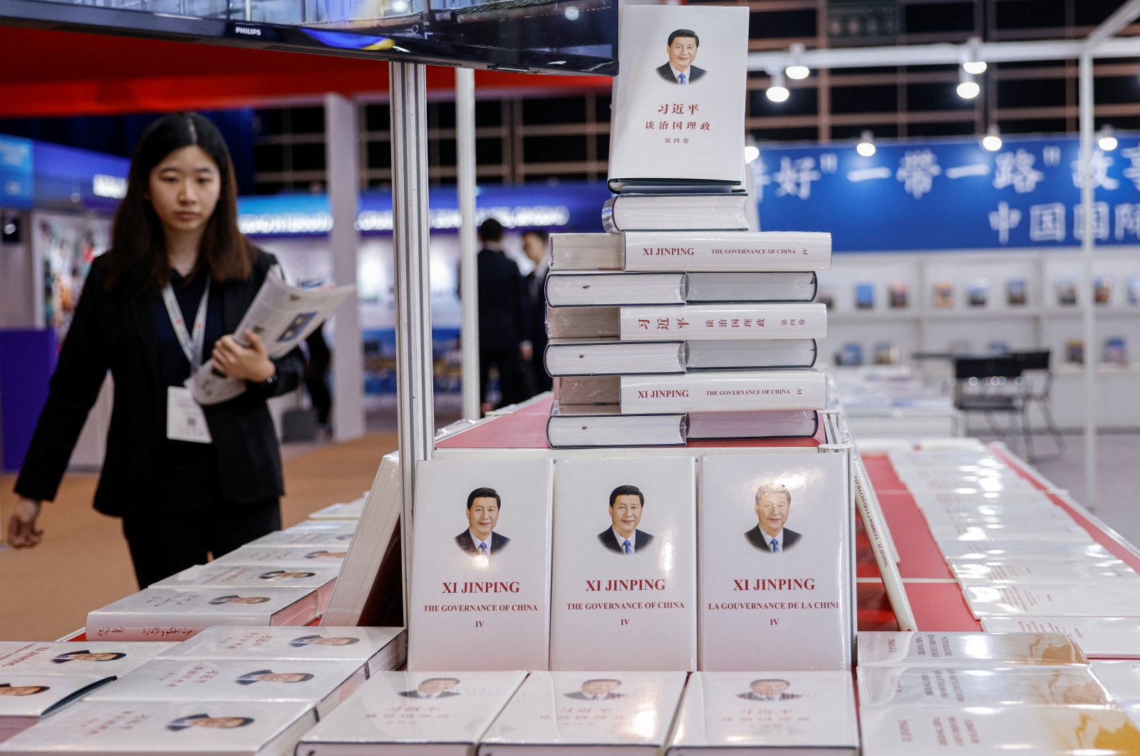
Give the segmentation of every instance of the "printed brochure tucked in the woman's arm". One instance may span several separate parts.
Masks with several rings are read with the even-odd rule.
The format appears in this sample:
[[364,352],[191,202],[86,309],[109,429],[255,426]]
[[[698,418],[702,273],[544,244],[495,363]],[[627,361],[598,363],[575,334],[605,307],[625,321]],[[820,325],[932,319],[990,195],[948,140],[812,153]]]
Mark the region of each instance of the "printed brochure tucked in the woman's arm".
[[[316,331],[355,290],[352,285],[298,288],[270,274],[234,336],[245,343],[245,332],[252,331],[264,343],[270,358],[282,357]],[[245,381],[222,375],[210,361],[194,372],[188,385],[199,405],[226,401],[245,391]]]

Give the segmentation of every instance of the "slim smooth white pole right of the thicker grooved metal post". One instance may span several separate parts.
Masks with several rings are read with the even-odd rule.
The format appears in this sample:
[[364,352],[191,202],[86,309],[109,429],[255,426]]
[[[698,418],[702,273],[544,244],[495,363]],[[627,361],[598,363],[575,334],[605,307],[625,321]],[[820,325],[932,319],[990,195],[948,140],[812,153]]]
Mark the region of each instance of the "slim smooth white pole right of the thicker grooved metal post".
[[479,270],[475,261],[475,72],[455,72],[456,165],[459,190],[459,336],[463,416],[479,420]]

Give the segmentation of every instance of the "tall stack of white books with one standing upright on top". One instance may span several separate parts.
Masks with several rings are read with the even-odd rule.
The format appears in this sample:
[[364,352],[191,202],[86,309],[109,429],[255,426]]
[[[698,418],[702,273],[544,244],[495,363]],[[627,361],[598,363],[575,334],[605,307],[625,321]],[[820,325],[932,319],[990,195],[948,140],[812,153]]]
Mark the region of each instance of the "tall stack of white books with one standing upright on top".
[[[705,46],[657,10],[622,17],[606,233],[552,236],[549,444],[812,436],[824,376],[811,368],[826,335],[813,300],[831,236],[748,230],[743,9],[687,17]],[[708,70],[674,59],[678,31]],[[670,63],[646,67],[661,47]],[[670,67],[689,70],[689,86]]]

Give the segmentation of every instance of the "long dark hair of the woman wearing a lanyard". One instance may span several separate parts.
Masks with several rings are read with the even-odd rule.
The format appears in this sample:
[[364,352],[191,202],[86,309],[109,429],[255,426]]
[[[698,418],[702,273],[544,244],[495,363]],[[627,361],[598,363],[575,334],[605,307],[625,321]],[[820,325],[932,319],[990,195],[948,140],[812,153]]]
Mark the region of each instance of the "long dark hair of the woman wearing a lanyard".
[[221,190],[206,221],[198,251],[214,281],[241,281],[253,271],[253,246],[237,228],[237,181],[229,149],[218,128],[197,113],[165,115],[142,132],[127,180],[127,196],[115,213],[107,252],[107,288],[157,291],[170,281],[162,222],[147,194],[150,171],[172,152],[196,145],[218,165]]

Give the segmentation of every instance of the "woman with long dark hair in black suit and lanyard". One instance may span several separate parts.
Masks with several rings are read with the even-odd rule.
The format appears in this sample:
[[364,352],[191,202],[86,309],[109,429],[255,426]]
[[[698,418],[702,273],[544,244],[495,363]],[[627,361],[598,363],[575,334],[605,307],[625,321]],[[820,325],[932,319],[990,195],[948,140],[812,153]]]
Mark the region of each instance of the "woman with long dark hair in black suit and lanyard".
[[[234,334],[276,265],[237,229],[218,129],[195,113],[152,123],[16,480],[9,544],[43,537],[41,503],[55,498],[108,371],[114,408],[95,507],[122,518],[140,587],[280,528],[280,449],[266,399],[300,385],[304,357],[270,359],[256,334]],[[198,406],[184,382],[206,361],[245,390]]]

